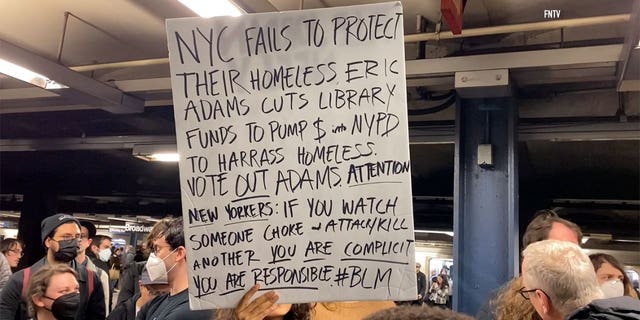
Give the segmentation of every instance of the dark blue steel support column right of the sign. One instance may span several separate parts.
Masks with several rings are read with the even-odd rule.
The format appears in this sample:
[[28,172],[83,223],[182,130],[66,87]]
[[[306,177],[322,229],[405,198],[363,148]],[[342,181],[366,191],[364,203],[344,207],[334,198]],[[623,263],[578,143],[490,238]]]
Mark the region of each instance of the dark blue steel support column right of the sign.
[[[517,106],[508,98],[456,105],[453,308],[476,314],[518,273]],[[491,167],[479,146],[491,146]]]

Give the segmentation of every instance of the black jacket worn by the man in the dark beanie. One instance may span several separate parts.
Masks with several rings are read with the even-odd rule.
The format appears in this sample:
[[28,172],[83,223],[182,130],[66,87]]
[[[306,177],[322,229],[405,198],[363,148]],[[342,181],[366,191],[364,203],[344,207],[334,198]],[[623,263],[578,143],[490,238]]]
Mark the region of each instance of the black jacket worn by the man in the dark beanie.
[[[47,264],[47,258],[44,257],[40,261],[31,265],[29,278],[31,278],[38,269]],[[76,313],[77,320],[104,320],[105,305],[104,291],[102,283],[97,273],[93,272],[93,292],[89,297],[89,283],[87,281],[87,269],[78,267],[75,261],[72,267],[78,273],[78,284],[80,285],[80,307]],[[22,300],[22,283],[24,277],[24,269],[20,270],[9,278],[7,285],[0,293],[0,320],[23,320],[26,317],[26,304]]]

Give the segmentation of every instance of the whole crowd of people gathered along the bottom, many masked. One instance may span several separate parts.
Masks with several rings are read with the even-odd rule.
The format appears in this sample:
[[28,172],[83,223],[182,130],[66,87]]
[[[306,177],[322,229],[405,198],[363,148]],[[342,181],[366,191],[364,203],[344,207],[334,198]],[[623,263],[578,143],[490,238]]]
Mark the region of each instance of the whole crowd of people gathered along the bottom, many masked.
[[[138,248],[114,248],[93,224],[66,214],[44,219],[40,231],[45,257],[15,272],[25,244],[0,242],[0,320],[472,319],[450,310],[450,275],[427,279],[419,263],[412,301],[279,304],[276,291],[258,294],[255,284],[233,309],[190,310],[181,218],[157,222]],[[622,265],[608,254],[585,255],[581,238],[576,224],[539,212],[523,235],[521,275],[475,318],[640,320],[638,293]]]

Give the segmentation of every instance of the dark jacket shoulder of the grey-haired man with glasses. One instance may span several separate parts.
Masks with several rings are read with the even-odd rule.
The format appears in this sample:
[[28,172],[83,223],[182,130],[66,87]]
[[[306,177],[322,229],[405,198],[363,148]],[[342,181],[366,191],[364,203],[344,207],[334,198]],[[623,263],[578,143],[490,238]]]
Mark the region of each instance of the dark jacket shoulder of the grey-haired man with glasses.
[[640,320],[640,300],[631,297],[598,299],[572,312],[565,320]]

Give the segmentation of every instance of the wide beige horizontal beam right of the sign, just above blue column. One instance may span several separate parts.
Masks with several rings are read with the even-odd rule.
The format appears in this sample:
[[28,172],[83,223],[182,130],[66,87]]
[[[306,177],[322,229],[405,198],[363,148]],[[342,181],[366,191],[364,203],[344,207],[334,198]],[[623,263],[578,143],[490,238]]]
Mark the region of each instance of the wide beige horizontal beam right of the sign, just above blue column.
[[405,62],[408,79],[450,75],[460,71],[536,68],[620,60],[622,45],[568,49],[494,53],[475,56],[409,60]]

